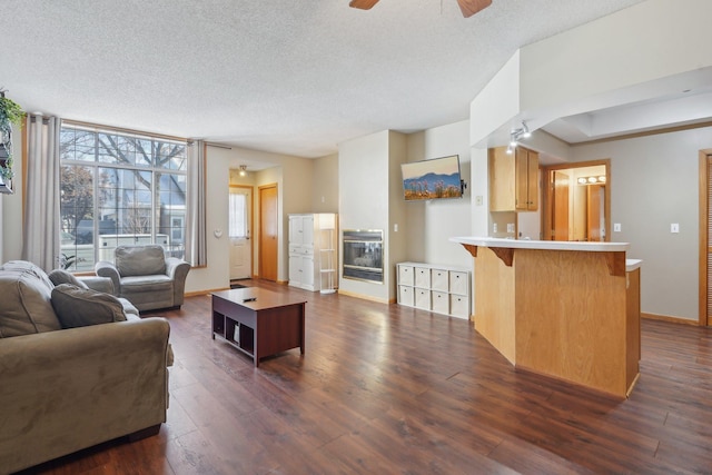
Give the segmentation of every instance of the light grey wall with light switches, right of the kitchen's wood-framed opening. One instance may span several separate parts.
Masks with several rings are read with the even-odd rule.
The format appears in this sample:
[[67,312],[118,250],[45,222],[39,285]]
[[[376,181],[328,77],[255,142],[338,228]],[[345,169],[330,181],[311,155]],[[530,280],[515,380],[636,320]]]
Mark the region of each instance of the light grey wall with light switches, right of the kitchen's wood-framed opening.
[[575,161],[611,158],[611,222],[622,231],[609,234],[643,259],[643,313],[698,320],[699,151],[710,148],[712,128],[572,149]]

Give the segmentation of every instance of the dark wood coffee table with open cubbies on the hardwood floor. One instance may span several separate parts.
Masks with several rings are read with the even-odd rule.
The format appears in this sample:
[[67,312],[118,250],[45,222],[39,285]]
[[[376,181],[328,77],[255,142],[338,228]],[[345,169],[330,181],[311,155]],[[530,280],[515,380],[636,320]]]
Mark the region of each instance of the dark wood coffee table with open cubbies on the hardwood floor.
[[304,355],[306,300],[289,294],[247,287],[212,293],[216,335],[259,359],[299,347]]

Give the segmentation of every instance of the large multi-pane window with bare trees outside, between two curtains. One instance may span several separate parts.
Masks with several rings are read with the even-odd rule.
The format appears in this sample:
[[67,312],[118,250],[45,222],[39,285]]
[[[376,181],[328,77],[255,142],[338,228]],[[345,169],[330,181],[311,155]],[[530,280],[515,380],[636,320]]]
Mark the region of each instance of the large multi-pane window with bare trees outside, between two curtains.
[[61,257],[71,270],[113,260],[119,245],[184,257],[186,142],[62,126]]

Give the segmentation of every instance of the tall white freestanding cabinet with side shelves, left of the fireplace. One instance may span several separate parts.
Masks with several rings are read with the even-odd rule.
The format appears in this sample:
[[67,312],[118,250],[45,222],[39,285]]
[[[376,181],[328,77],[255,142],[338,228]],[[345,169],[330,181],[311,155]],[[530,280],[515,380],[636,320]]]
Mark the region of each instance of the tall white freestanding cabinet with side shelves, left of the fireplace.
[[[328,219],[324,219],[326,215],[329,215]],[[336,232],[334,225],[329,229],[322,229],[324,222],[336,222],[336,215],[289,215],[290,286],[317,291],[328,287],[327,281],[334,281],[334,276],[329,279],[328,273],[336,273]]]

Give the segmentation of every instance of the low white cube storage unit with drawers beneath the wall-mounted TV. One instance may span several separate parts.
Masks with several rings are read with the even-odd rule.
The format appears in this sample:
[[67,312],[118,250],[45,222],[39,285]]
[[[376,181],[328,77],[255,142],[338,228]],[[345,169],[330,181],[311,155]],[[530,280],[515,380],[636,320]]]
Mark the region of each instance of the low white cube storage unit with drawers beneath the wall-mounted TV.
[[398,305],[469,318],[469,270],[423,263],[397,265]]

